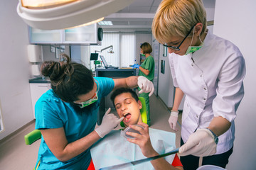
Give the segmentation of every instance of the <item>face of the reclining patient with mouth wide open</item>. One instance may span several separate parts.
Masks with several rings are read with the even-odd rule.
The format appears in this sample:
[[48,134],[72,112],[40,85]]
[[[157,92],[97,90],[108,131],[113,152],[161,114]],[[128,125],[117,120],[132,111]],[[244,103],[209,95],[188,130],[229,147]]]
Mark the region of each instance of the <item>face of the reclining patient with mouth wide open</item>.
[[139,109],[142,108],[141,101],[136,101],[130,93],[119,94],[114,98],[114,107],[119,118],[124,117],[124,125],[136,125],[142,122]]

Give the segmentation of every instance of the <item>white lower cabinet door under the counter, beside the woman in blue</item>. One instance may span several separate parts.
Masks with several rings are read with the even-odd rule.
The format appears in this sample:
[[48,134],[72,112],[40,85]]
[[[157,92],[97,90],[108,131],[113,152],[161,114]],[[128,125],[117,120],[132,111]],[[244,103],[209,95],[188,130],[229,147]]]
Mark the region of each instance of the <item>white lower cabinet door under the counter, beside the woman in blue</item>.
[[50,84],[30,84],[33,117],[35,118],[35,105],[38,98],[50,89]]

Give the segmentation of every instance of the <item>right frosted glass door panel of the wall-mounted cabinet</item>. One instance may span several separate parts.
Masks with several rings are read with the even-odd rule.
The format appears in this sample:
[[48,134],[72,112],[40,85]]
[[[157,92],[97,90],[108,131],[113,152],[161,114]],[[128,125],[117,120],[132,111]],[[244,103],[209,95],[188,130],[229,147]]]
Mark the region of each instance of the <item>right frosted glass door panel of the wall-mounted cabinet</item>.
[[97,42],[96,24],[64,30],[65,42]]

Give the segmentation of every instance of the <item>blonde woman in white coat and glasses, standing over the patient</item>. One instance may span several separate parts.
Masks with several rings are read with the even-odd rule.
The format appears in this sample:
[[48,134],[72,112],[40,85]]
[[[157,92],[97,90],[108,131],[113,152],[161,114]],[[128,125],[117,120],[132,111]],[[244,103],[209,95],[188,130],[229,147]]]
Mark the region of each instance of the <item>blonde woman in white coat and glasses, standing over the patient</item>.
[[184,169],[202,164],[225,168],[233,152],[235,117],[244,96],[245,60],[232,42],[208,32],[201,0],[163,0],[152,33],[168,47],[176,87],[169,124],[176,130],[178,106],[185,102],[181,126]]

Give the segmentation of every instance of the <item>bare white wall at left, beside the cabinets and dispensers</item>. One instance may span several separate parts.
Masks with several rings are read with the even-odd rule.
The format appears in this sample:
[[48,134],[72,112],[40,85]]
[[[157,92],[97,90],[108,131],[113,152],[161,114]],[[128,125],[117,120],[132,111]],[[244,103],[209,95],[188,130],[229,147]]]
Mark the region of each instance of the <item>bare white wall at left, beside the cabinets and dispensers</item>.
[[0,5],[0,106],[4,132],[0,140],[33,120],[28,79],[28,28],[16,12],[18,0]]

